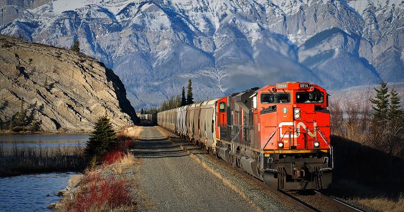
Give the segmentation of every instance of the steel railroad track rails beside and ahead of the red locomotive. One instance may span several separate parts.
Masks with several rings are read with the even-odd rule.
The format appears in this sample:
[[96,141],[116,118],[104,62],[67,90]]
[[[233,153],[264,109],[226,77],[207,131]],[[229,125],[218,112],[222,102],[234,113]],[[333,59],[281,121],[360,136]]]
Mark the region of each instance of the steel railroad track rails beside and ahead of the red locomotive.
[[[213,156],[213,155],[212,155]],[[222,163],[225,166],[231,167],[234,170],[236,170],[238,173],[240,173],[241,175],[243,175],[244,177],[248,178],[251,181],[254,181],[256,183],[258,183],[259,185],[261,185],[264,188],[269,189],[270,191],[272,191],[273,193],[277,194],[278,196],[282,197],[283,199],[287,200],[288,202],[290,202],[291,204],[299,207],[302,211],[321,211],[321,209],[318,209],[302,200],[300,200],[299,198],[293,196],[292,194],[286,192],[286,191],[282,191],[282,190],[278,190],[278,189],[274,189],[271,188],[270,186],[268,186],[267,184],[265,184],[263,181],[245,173],[242,169],[238,168],[238,167],[233,167],[231,164],[224,162],[223,160],[220,160],[219,158],[213,156],[218,162]],[[342,202],[338,199],[335,199],[331,196],[328,196],[326,194],[323,194],[319,191],[315,191],[315,194],[313,195],[315,198],[319,197],[322,200],[329,202],[331,204],[333,204],[334,206],[340,208],[340,211],[363,211],[361,209],[358,209],[354,206],[351,206],[345,202]]]

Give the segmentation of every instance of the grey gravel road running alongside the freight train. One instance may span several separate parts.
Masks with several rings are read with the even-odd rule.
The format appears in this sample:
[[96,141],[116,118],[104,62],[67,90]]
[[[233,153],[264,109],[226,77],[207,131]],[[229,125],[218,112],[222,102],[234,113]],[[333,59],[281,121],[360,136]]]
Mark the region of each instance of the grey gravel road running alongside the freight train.
[[153,205],[141,210],[251,211],[240,195],[194,162],[157,127],[143,128],[133,152],[143,158],[140,189]]

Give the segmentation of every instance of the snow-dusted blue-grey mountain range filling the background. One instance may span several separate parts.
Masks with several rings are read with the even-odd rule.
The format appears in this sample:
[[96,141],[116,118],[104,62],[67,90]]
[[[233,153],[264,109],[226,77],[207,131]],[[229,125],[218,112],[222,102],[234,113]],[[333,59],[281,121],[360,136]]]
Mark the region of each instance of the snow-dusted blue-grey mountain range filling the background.
[[[26,3],[29,2],[30,4]],[[1,3],[1,2],[0,2]],[[0,32],[112,68],[135,108],[279,81],[327,89],[404,80],[401,0],[14,0]]]

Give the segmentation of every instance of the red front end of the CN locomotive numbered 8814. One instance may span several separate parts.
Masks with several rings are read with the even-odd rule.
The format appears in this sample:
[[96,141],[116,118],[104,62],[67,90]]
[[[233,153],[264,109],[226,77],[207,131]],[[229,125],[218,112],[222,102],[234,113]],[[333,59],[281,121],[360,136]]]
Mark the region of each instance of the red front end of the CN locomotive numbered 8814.
[[333,158],[326,90],[277,83],[257,90],[252,101],[264,181],[285,190],[327,188]]

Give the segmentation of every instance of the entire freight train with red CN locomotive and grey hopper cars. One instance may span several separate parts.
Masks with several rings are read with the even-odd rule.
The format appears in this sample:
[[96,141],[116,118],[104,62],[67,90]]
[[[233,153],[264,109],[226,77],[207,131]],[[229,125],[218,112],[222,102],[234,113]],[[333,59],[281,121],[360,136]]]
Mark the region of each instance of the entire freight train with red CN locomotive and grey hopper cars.
[[318,190],[331,183],[334,164],[327,107],[322,87],[284,82],[140,118],[273,188]]

